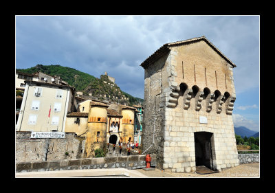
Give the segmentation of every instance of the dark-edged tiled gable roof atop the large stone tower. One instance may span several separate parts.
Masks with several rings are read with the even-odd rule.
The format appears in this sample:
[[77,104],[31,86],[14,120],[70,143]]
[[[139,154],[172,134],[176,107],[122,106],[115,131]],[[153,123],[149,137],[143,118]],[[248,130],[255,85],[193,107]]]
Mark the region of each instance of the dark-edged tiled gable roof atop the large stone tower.
[[146,58],[146,60],[144,60],[144,62],[140,66],[142,66],[143,68],[148,67],[148,65],[155,62],[160,57],[164,56],[164,54],[167,54],[170,51],[170,47],[185,45],[188,43],[194,43],[194,42],[198,42],[198,41],[205,41],[210,47],[212,47],[212,49],[214,49],[214,51],[216,51],[221,57],[223,57],[228,63],[230,63],[230,65],[232,65],[232,67],[236,67],[236,65],[234,63],[232,63],[232,61],[229,60],[223,53],[221,53],[221,51],[219,51],[219,49],[217,49],[217,47],[215,47],[210,41],[208,41],[208,39],[205,36],[201,36],[199,38],[191,38],[186,41],[177,41],[174,43],[166,43],[166,44],[162,45],[162,47],[157,49],[157,51],[154,52],[151,56]]

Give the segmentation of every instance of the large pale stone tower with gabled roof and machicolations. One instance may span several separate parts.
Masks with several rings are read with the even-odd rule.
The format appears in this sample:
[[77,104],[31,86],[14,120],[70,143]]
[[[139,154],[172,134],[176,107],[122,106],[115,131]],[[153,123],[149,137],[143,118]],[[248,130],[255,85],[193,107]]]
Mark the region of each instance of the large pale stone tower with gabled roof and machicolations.
[[204,36],[166,43],[144,68],[142,146],[157,166],[195,172],[239,165],[232,110],[236,67]]

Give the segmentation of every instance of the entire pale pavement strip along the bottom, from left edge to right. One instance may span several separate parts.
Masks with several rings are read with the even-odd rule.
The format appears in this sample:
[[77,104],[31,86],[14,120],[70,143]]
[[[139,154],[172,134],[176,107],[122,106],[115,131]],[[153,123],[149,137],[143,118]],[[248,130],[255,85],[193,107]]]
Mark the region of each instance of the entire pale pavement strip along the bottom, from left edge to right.
[[113,169],[93,169],[93,170],[58,170],[47,172],[19,172],[16,177],[134,177],[134,178],[186,178],[186,177],[260,177],[259,163],[241,164],[234,168],[222,170],[214,174],[197,174],[197,173],[176,173],[164,172],[155,168],[155,170],[145,171],[143,169],[126,170],[124,168]]

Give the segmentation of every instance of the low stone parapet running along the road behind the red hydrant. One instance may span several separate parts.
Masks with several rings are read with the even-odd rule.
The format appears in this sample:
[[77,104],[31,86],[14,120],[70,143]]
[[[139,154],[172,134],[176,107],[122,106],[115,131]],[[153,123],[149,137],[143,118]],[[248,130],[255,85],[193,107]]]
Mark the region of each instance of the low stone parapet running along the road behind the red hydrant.
[[[155,166],[156,155],[152,157],[151,166]],[[63,159],[57,161],[34,161],[16,164],[16,172],[41,172],[54,170],[86,170],[102,168],[126,168],[129,170],[144,168],[146,155],[121,157],[97,157],[83,159]]]

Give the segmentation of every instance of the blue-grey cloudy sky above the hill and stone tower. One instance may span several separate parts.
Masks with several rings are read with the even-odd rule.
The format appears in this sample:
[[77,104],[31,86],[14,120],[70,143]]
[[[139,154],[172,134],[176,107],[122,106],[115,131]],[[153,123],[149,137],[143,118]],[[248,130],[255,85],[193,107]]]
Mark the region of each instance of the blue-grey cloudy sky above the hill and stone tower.
[[16,16],[16,68],[61,65],[144,98],[140,64],[165,43],[206,36],[236,65],[235,126],[259,130],[259,16]]

